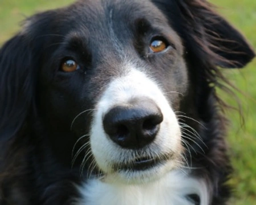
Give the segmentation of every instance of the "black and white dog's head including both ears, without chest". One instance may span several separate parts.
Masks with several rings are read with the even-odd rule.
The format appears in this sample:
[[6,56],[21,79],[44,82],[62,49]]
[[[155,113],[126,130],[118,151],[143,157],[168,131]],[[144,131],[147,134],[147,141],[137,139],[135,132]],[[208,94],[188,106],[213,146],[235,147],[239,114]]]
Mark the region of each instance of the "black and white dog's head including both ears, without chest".
[[183,161],[186,141],[201,144],[201,125],[179,116],[213,117],[217,67],[253,57],[202,0],[88,0],[40,13],[0,51],[0,137],[29,129],[61,163],[108,180],[159,178]]

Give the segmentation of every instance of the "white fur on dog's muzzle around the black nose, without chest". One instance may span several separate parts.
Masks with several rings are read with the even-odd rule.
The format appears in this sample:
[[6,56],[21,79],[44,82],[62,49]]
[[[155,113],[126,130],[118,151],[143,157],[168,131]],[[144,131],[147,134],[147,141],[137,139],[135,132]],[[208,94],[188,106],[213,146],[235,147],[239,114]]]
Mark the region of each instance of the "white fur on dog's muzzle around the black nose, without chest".
[[144,149],[145,153],[151,156],[175,153],[180,157],[179,154],[182,151],[181,132],[177,118],[159,86],[141,71],[132,67],[124,69],[127,71],[126,74],[109,84],[96,105],[90,134],[92,153],[96,159],[97,166],[106,174],[106,181],[140,183],[141,181],[155,180],[177,166],[180,159],[166,161],[147,171],[134,171],[131,173],[128,171],[116,172],[112,170],[114,163],[123,163],[127,160],[132,161],[134,158],[132,158],[132,150],[122,149],[104,132],[103,116],[113,106],[128,103],[133,98],[147,97],[152,99],[164,114],[164,120],[160,125],[159,133],[155,141]]

